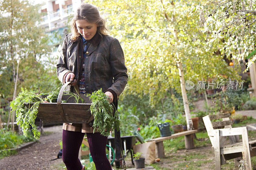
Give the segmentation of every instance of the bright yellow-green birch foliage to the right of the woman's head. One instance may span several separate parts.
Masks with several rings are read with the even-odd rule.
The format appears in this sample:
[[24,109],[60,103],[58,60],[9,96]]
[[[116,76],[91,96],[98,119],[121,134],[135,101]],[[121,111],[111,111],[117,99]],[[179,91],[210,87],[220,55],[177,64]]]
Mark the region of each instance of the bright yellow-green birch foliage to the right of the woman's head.
[[178,60],[185,80],[220,79],[220,74],[238,78],[237,70],[227,67],[223,56],[218,55],[217,45],[198,33],[199,13],[188,15],[200,1],[124,0],[117,5],[112,5],[116,4],[113,0],[87,2],[109,14],[111,34],[122,42],[129,70],[124,93],[141,98],[148,95],[153,107],[172,89],[181,93]]

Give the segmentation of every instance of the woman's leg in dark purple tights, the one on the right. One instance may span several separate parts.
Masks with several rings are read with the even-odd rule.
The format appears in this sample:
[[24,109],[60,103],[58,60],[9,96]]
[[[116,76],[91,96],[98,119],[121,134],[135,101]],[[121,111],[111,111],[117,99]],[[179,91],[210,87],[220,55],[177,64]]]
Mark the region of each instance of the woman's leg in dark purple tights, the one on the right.
[[106,144],[108,137],[97,133],[86,133],[90,146],[92,160],[97,170],[112,170],[111,165],[106,156]]

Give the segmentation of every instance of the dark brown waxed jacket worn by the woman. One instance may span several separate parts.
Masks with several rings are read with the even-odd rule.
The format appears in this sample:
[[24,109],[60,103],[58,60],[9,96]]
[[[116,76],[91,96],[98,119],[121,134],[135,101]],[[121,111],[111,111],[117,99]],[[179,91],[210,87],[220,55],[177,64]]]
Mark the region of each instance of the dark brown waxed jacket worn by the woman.
[[[113,90],[117,99],[127,84],[127,68],[124,64],[124,53],[119,41],[116,38],[99,36],[98,43],[89,45],[86,55],[83,55],[83,41],[80,35],[75,41],[71,39],[71,33],[65,36],[61,51],[58,54],[57,77],[63,82],[63,77],[68,72],[75,74],[77,85],[81,75],[81,66],[84,61],[84,81],[86,93],[92,93],[102,88],[103,92]],[[75,93],[73,86],[68,90]],[[63,124],[63,129],[92,133],[89,124]]]

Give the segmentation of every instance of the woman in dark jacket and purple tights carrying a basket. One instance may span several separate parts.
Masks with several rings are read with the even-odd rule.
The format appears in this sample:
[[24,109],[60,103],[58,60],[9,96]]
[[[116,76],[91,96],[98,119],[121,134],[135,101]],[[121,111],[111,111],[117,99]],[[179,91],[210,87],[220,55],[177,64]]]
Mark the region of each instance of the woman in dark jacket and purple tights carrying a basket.
[[[95,6],[82,3],[71,23],[71,32],[65,36],[57,63],[57,76],[64,84],[77,84],[79,93],[102,91],[114,104],[127,84],[124,53],[117,39],[107,35],[105,20]],[[75,92],[74,87],[69,87]],[[93,132],[90,124],[64,123],[62,133],[62,160],[67,169],[81,170],[78,159],[84,134],[97,170],[111,170],[106,157],[107,137]]]

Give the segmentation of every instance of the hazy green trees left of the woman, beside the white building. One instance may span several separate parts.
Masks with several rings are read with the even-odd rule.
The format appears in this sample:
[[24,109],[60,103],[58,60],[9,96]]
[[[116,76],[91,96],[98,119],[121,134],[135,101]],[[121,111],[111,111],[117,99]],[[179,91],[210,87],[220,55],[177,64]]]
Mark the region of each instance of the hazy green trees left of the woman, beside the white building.
[[[38,24],[43,13],[41,4],[28,0],[6,0],[0,3],[0,93],[12,97],[17,73],[17,89],[50,92],[60,86],[56,77],[56,56],[49,46],[49,37]],[[18,90],[19,92],[19,90]],[[17,94],[18,94],[17,92]]]

